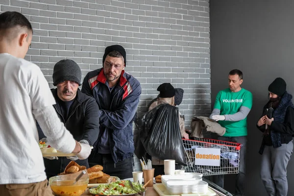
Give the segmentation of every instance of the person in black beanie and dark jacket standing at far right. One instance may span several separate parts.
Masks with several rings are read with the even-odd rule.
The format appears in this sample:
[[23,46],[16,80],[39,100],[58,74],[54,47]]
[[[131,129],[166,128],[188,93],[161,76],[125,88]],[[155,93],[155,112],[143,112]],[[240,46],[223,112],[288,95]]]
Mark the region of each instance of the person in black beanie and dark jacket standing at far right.
[[287,165],[293,151],[294,105],[286,82],[276,78],[269,86],[269,102],[257,128],[263,132],[259,153],[260,176],[269,196],[287,196]]

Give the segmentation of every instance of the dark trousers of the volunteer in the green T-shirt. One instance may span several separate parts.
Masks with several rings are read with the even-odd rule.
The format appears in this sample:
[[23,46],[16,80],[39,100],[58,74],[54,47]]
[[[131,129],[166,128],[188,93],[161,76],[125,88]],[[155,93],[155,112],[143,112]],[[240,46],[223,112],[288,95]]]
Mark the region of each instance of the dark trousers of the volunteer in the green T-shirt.
[[[240,143],[243,146],[240,150],[240,157],[239,157],[239,173],[237,174],[236,180],[236,187],[235,187],[235,196],[244,196],[245,192],[245,163],[246,163],[246,143],[247,137],[240,136],[240,137],[218,137],[218,140],[226,141],[226,142],[235,142]],[[215,175],[213,176],[213,181],[218,186],[223,188],[224,184],[224,176],[223,175]]]

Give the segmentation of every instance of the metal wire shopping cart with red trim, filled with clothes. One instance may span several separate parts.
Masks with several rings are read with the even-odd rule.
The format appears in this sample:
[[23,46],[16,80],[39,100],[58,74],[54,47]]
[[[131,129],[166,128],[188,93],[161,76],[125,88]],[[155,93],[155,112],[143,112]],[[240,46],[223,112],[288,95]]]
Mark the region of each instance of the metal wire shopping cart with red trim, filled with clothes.
[[[185,158],[187,166],[186,172],[198,172],[203,175],[220,175],[239,173],[239,143],[225,142],[206,138],[197,138],[197,140],[183,139],[185,148]],[[220,166],[195,165],[196,148],[220,148]]]

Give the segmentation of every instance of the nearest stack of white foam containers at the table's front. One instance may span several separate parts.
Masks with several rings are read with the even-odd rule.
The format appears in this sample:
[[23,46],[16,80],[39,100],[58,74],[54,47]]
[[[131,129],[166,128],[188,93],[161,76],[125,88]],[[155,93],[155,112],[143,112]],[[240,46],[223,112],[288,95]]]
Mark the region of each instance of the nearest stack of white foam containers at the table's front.
[[167,181],[167,190],[171,194],[200,194],[208,192],[208,183],[202,180]]

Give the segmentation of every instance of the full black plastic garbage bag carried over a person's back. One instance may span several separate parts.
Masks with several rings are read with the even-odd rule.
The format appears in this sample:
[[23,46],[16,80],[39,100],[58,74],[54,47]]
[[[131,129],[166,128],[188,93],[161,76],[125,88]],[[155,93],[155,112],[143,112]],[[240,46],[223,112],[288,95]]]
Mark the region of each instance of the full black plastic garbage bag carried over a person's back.
[[135,154],[141,157],[147,152],[157,159],[174,159],[175,163],[186,166],[178,117],[177,107],[160,104],[137,118],[135,123],[141,143],[137,142]]

